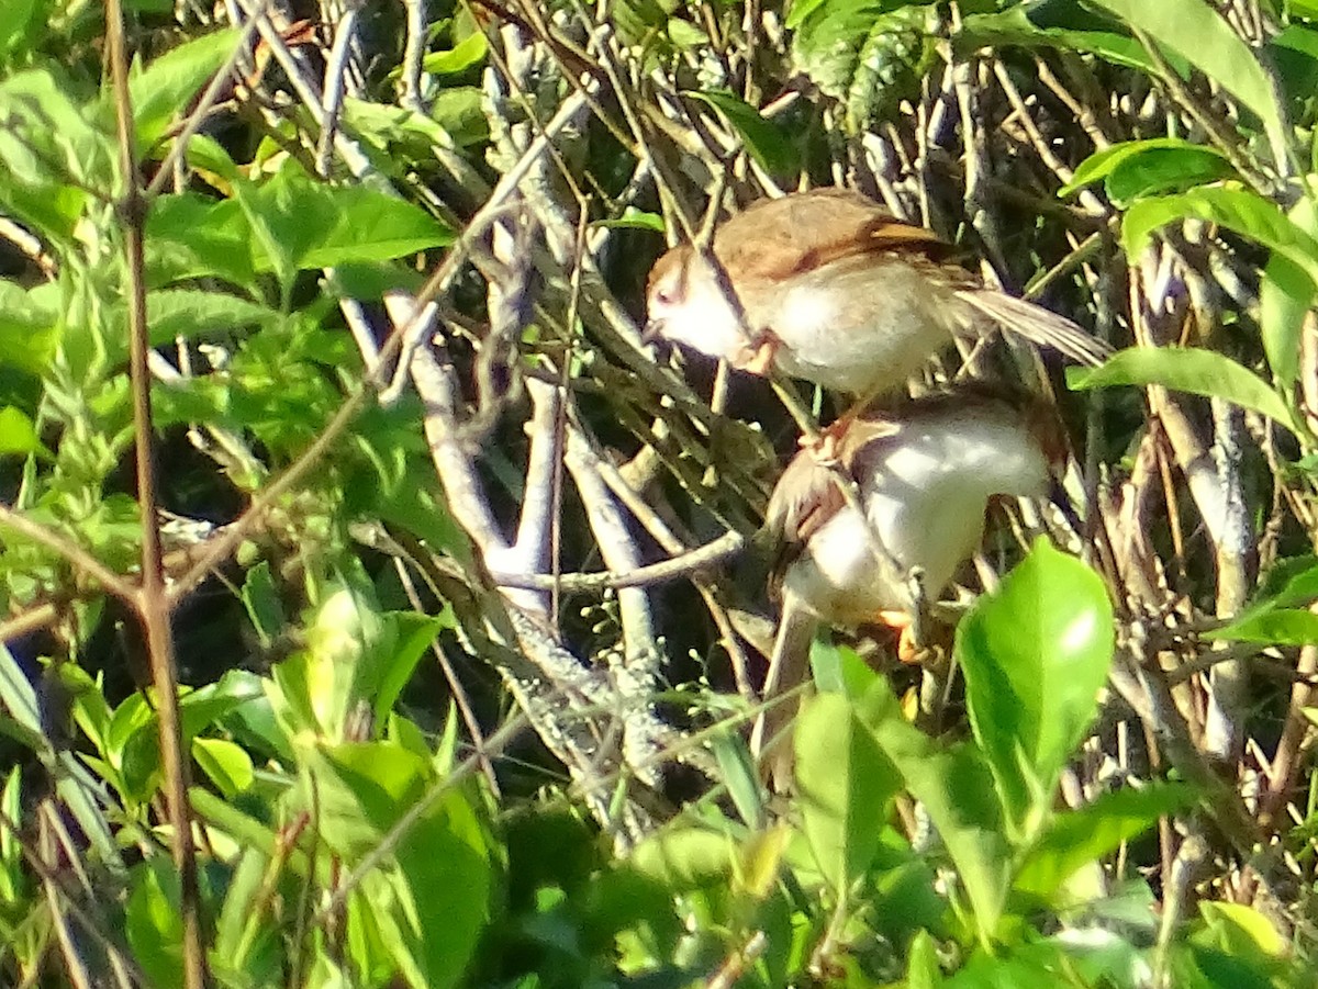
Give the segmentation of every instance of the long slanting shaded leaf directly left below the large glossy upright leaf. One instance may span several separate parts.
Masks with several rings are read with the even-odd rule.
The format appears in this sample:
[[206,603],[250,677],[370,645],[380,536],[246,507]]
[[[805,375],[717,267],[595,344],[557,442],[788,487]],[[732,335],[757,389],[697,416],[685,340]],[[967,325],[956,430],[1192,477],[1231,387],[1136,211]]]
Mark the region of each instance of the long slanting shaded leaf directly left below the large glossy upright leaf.
[[1011,848],[992,776],[971,745],[938,745],[902,715],[888,682],[876,677],[855,705],[902,782],[929,813],[974,907],[981,940],[991,939],[1011,884]]

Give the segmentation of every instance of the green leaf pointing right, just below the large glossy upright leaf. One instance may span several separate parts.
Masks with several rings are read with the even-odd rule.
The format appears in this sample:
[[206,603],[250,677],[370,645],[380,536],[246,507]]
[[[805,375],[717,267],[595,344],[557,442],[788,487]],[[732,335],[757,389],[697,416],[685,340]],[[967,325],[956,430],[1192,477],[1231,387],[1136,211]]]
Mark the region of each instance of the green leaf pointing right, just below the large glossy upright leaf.
[[1165,815],[1193,807],[1198,794],[1189,786],[1152,784],[1139,790],[1104,793],[1079,810],[1058,814],[1029,849],[1016,889],[1052,897],[1077,869],[1116,851]]

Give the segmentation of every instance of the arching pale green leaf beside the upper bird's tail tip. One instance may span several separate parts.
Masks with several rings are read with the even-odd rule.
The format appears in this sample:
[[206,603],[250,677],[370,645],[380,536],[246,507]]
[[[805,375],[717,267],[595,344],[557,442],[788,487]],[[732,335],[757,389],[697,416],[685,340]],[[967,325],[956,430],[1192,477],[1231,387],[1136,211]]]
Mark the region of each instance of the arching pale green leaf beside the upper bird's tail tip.
[[1072,388],[1161,385],[1173,391],[1232,402],[1288,429],[1294,428],[1286,403],[1263,378],[1214,350],[1135,346],[1114,354],[1102,367],[1068,369],[1066,383]]

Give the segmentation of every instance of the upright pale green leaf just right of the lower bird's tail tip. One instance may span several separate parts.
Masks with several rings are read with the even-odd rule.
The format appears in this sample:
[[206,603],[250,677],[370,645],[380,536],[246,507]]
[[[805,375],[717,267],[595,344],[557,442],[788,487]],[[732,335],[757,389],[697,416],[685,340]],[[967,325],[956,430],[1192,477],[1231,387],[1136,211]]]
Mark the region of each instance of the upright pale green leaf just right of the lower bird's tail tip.
[[820,872],[836,892],[865,874],[879,847],[896,769],[841,694],[801,706],[793,734],[801,824]]

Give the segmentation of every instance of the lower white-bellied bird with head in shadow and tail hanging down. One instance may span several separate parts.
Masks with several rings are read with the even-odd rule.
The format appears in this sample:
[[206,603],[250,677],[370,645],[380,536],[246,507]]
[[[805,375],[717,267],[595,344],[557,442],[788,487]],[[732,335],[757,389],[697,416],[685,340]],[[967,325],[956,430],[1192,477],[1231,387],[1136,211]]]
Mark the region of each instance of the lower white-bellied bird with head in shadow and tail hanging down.
[[811,449],[796,453],[757,533],[778,547],[771,581],[782,616],[751,751],[776,788],[791,778],[787,728],[796,710],[780,695],[807,680],[818,623],[908,631],[919,597],[937,601],[979,547],[990,499],[1046,495],[1066,452],[1054,407],[971,381],[855,417],[832,465]]

